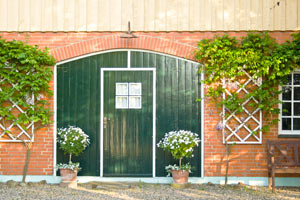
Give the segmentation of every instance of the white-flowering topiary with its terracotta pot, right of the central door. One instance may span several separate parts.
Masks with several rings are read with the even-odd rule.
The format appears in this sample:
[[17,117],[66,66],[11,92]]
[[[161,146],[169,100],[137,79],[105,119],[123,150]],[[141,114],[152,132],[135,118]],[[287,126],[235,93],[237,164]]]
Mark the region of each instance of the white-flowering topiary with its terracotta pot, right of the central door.
[[158,147],[171,152],[173,158],[179,160],[179,165],[166,166],[168,175],[172,173],[175,184],[187,184],[191,172],[189,163],[183,164],[183,158],[193,157],[194,147],[198,146],[200,139],[198,134],[191,131],[179,130],[166,133],[164,138],[157,144]]

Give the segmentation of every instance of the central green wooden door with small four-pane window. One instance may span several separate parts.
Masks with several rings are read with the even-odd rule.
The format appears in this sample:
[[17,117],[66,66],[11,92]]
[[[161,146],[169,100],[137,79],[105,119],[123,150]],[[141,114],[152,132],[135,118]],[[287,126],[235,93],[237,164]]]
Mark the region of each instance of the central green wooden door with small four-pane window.
[[153,72],[104,71],[103,176],[152,176]]

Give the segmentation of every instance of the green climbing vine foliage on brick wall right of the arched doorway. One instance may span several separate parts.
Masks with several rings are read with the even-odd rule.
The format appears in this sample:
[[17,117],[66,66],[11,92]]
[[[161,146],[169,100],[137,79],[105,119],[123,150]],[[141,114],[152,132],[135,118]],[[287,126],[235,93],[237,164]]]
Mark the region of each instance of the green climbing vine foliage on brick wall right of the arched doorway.
[[[215,36],[198,43],[196,60],[203,64],[204,84],[209,86],[205,97],[215,101],[220,107],[226,106],[231,112],[243,111],[242,103],[254,97],[258,103],[251,103],[253,108],[260,108],[265,116],[280,113],[278,95],[282,93],[278,86],[287,82],[286,76],[300,66],[300,33],[293,34],[293,40],[278,44],[268,33],[249,33],[237,40],[235,37]],[[235,87],[244,71],[255,81],[262,81],[248,94],[239,96],[234,93],[222,98],[226,87]],[[263,127],[268,130],[274,119]]]

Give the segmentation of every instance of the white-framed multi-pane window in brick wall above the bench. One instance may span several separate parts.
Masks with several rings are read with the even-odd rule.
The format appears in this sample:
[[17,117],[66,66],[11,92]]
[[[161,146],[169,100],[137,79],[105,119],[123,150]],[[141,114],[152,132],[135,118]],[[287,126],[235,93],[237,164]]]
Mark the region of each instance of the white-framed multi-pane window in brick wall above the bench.
[[282,87],[280,134],[300,135],[300,73],[288,75],[287,80]]

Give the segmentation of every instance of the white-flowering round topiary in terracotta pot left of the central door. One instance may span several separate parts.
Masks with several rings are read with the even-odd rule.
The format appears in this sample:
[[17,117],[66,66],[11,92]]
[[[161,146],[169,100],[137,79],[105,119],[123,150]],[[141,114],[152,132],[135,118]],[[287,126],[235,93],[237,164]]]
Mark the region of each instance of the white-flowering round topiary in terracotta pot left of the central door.
[[69,163],[56,165],[62,177],[61,186],[77,187],[77,173],[80,170],[79,163],[72,162],[72,155],[78,156],[90,144],[89,136],[81,128],[69,126],[57,131],[57,142],[64,154],[69,155]]

